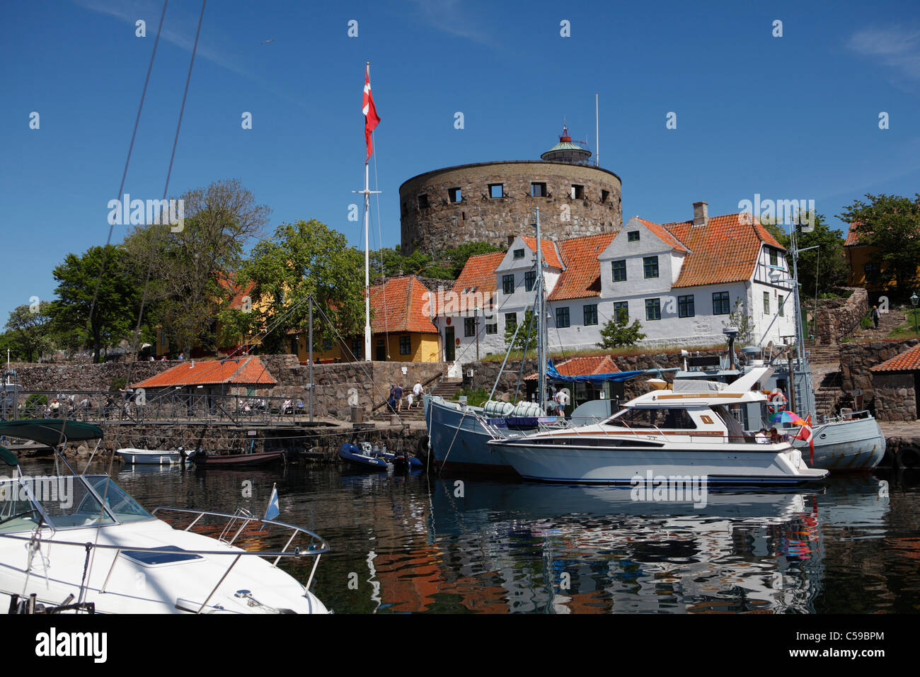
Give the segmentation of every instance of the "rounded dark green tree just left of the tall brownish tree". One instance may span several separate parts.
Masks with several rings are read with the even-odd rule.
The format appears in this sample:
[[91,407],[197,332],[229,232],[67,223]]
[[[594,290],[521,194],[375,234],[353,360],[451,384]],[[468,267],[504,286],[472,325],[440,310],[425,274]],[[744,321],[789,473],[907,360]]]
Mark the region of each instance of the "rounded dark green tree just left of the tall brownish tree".
[[58,298],[52,301],[49,314],[59,347],[88,344],[93,362],[98,363],[102,348],[129,337],[137,321],[141,285],[128,270],[127,253],[109,245],[91,247],[82,256],[67,254],[53,275]]

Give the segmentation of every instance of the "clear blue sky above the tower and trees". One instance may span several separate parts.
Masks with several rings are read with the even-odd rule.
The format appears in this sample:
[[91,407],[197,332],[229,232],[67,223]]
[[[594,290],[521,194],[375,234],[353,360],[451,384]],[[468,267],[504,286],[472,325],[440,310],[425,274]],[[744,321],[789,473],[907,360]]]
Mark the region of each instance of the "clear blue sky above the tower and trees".
[[[54,266],[108,238],[107,204],[161,9],[159,0],[0,5],[0,319],[30,297],[53,298]],[[200,10],[169,2],[126,183],[132,197],[163,193]],[[138,19],[146,38],[135,36]],[[347,34],[352,19],[357,38]],[[782,37],[773,36],[777,19]],[[563,20],[570,37],[560,36]],[[361,244],[348,207],[363,181],[367,61],[382,117],[371,181],[383,191],[385,246],[399,241],[399,185],[420,172],[539,158],[563,116],[593,149],[595,92],[601,165],[623,180],[625,218],[684,220],[696,200],[726,214],[760,193],[813,199],[845,228],[835,215],[864,193],[920,190],[915,0],[211,0],[169,193],[239,179],[273,210],[267,235],[317,218]],[[40,129],[29,129],[32,111]],[[464,129],[454,128],[457,111]],[[375,248],[374,204],[372,216]],[[124,234],[116,227],[113,240]]]

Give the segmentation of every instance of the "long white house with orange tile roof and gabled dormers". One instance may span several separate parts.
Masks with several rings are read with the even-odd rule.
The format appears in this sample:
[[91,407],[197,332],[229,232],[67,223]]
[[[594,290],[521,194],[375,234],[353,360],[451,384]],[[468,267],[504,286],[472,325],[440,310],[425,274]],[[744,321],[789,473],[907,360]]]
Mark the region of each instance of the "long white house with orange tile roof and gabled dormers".
[[[517,236],[503,254],[469,259],[434,305],[445,360],[505,351],[506,326],[534,304],[535,248],[533,237]],[[753,323],[754,344],[785,343],[795,333],[785,254],[750,214],[709,218],[707,203],[694,204],[690,221],[634,216],[617,233],[544,241],[549,350],[596,348],[624,310],[646,334],[639,345],[722,344],[736,306]]]

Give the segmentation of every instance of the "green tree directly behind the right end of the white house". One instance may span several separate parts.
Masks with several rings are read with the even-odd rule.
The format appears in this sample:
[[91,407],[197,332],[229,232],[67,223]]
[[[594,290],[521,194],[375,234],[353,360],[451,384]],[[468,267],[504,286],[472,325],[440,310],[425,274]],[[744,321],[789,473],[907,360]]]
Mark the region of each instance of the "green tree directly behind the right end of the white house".
[[[803,298],[825,294],[835,286],[846,284],[846,258],[844,254],[844,236],[839,230],[833,230],[824,220],[824,216],[806,212],[804,221],[811,218],[814,229],[811,232],[797,234],[799,249],[818,247],[816,250],[802,251],[799,254],[799,284]],[[762,221],[763,222],[763,221]],[[788,251],[791,242],[789,234],[782,226],[764,223],[776,240]],[[789,262],[789,272],[792,262]],[[817,287],[816,287],[817,285]]]

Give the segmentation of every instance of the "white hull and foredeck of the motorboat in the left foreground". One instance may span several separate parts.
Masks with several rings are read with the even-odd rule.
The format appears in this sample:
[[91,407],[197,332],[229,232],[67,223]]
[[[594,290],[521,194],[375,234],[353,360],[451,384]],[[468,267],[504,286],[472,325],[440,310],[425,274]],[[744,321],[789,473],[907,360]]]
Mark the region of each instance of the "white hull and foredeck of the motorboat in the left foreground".
[[[23,535],[23,534],[17,534]],[[25,534],[28,536],[28,533]],[[42,532],[41,554],[51,565],[47,569],[36,554],[27,572],[28,553],[24,541],[0,538],[0,611],[9,608],[10,596],[28,597],[55,606],[73,594],[80,598],[80,581],[86,550],[79,545],[55,542],[97,543],[125,548],[178,546],[184,550],[223,551],[196,559],[144,565],[123,551],[96,549],[87,575],[83,601],[94,602],[97,613],[185,613],[197,612],[208,594],[233,564],[234,553],[243,552],[216,539],[191,531],[178,531],[160,519],[147,519],[105,526],[100,529],[67,529]],[[114,568],[112,563],[118,562]],[[109,569],[111,574],[109,577]],[[106,578],[109,577],[108,583]],[[105,586],[105,591],[101,589]],[[238,590],[251,590],[259,601],[250,604],[237,597]],[[244,555],[214,591],[201,613],[328,613],[323,603],[306,591],[282,569],[258,555]]]

